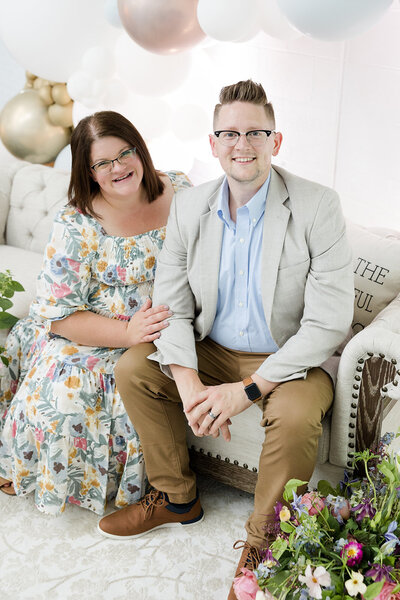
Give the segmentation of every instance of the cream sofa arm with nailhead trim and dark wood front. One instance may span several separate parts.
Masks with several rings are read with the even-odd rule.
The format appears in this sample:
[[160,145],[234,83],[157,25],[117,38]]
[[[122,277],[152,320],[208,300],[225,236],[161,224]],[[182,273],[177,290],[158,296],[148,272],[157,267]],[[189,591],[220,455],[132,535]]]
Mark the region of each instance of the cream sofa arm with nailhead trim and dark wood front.
[[329,460],[351,467],[380,438],[389,399],[400,399],[400,295],[346,345],[339,364]]

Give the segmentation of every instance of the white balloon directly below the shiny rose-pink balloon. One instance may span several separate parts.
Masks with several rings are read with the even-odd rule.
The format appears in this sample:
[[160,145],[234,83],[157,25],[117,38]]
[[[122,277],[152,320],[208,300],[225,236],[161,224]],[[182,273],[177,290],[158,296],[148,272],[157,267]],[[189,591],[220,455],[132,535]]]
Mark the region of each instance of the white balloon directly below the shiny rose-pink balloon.
[[190,54],[153,54],[135,44],[124,32],[115,45],[115,62],[118,75],[133,92],[161,96],[185,80],[190,69]]

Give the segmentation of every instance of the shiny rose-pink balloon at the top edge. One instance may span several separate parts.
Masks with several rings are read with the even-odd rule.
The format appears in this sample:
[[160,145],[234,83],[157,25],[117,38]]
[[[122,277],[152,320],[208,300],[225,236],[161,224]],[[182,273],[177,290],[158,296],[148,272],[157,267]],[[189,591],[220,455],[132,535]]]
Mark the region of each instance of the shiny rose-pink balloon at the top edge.
[[122,25],[140,46],[174,54],[205,37],[197,20],[198,0],[118,0]]

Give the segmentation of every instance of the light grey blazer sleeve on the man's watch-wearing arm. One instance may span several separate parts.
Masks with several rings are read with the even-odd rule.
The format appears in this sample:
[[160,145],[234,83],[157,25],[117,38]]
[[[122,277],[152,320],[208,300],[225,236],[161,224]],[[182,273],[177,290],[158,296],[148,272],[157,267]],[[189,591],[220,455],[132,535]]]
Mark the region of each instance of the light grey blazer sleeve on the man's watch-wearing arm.
[[326,189],[307,236],[310,269],[298,331],[257,370],[269,381],[307,376],[333,355],[348,334],[354,310],[352,253],[339,198]]

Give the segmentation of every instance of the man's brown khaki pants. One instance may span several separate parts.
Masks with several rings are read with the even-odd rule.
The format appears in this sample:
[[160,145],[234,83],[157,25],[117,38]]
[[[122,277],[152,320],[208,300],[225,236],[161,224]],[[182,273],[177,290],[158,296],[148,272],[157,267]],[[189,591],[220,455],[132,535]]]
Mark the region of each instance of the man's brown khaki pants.
[[[117,363],[115,376],[126,411],[139,434],[149,481],[172,502],[193,500],[196,478],[189,467],[186,417],[175,382],[147,356],[153,344],[133,346]],[[196,343],[198,371],[205,385],[240,381],[268,356],[229,350],[206,338]],[[291,478],[308,481],[314,469],[321,421],[333,399],[329,375],[315,368],[307,379],[278,385],[264,401],[265,428],[254,511],[246,523],[247,540],[260,546],[274,505]],[[233,417],[235,418],[235,417]],[[251,435],[251,432],[248,432]],[[228,443],[228,442],[227,442]]]

